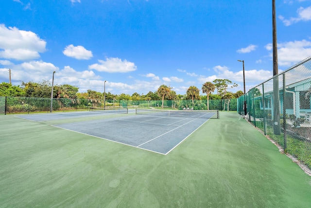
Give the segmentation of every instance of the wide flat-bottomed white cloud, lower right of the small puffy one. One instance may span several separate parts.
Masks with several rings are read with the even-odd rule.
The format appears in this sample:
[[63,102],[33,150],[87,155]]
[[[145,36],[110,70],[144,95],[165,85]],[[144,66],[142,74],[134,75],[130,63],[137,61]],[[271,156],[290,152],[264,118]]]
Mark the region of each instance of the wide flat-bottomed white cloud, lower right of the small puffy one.
[[108,73],[116,72],[130,72],[135,71],[137,67],[134,63],[127,60],[121,60],[120,58],[106,58],[105,61],[98,60],[100,64],[92,64],[88,66],[88,69],[95,69],[97,71],[105,71]]

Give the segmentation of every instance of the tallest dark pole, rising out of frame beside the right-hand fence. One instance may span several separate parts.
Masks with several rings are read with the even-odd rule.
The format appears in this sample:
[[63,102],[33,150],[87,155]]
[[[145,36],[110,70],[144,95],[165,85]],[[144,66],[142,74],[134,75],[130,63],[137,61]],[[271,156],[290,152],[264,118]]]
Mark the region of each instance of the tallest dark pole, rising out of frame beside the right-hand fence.
[[275,135],[281,134],[280,129],[280,100],[278,89],[278,64],[277,64],[277,41],[276,41],[276,0],[272,0],[272,47],[273,47],[273,131]]

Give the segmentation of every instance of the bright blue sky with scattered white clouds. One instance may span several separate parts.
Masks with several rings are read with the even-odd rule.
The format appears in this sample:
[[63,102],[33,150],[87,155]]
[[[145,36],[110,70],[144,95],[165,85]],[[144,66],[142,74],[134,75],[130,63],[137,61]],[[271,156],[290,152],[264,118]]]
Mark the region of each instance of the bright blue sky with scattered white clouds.
[[[279,72],[311,56],[311,0],[276,0]],[[0,83],[49,80],[112,94],[177,94],[273,75],[272,0],[5,0]],[[200,91],[202,94],[202,90]],[[215,91],[216,93],[216,91]]]

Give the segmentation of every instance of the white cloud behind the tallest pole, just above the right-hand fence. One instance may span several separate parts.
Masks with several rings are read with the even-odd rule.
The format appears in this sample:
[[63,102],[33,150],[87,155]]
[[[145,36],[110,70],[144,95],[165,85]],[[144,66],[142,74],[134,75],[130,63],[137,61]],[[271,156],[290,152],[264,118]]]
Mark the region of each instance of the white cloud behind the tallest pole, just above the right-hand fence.
[[[268,51],[272,50],[272,44],[266,45]],[[270,57],[272,57],[270,52]],[[311,56],[311,42],[307,40],[290,41],[277,44],[277,59],[280,66],[292,66]]]

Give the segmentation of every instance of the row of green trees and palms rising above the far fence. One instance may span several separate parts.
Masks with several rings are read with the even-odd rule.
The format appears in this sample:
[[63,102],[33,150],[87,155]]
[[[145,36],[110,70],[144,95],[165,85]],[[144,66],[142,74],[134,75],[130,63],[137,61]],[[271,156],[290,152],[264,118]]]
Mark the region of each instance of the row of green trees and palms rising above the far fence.
[[[231,87],[228,87],[231,85]],[[187,89],[186,94],[180,95],[172,90],[172,87],[161,85],[155,92],[149,91],[146,95],[138,94],[137,92],[132,95],[121,93],[115,95],[110,92],[105,93],[105,100],[132,100],[132,101],[151,101],[162,100],[162,107],[164,100],[217,100],[226,99],[229,102],[231,98],[238,98],[243,95],[241,90],[236,93],[228,91],[228,88],[237,87],[238,85],[227,79],[215,79],[212,82],[206,82],[202,85],[202,93],[206,95],[200,95],[200,89],[195,86],[190,86]],[[216,89],[216,94],[212,94]],[[42,81],[39,83],[27,82],[21,83],[21,86],[13,86],[9,83],[0,84],[0,96],[11,97],[35,97],[35,98],[51,98],[52,84],[49,81]],[[88,89],[87,92],[79,92],[79,87],[71,86],[68,84],[53,86],[53,98],[68,98],[68,99],[92,99],[92,100],[104,100],[104,92],[98,92]]]

